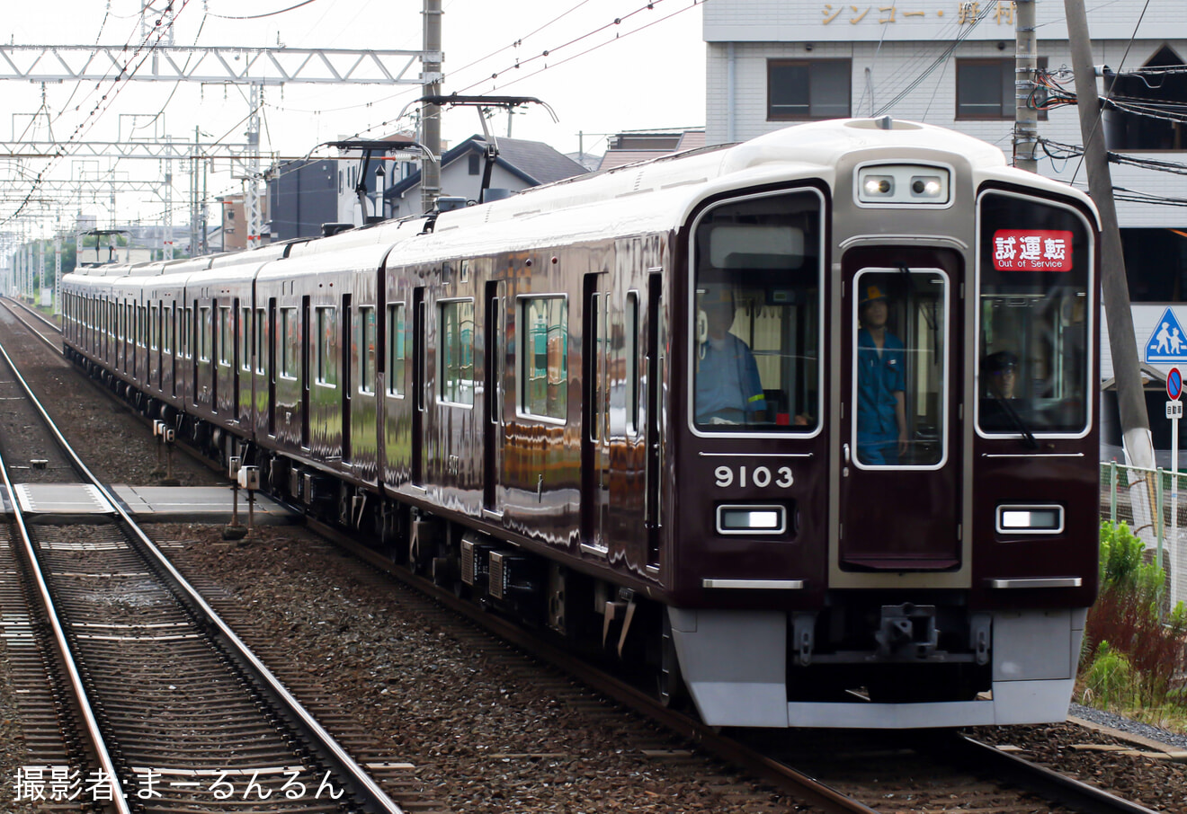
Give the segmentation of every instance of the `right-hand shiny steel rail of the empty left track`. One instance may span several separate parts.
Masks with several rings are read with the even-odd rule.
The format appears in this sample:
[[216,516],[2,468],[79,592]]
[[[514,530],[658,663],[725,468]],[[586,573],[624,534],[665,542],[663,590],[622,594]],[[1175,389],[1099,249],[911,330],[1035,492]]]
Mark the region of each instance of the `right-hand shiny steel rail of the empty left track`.
[[[104,500],[107,500],[107,502],[115,509],[115,514],[118,514],[120,519],[125,522],[128,530],[131,530],[132,534],[135,536],[135,539],[140,542],[144,551],[147,552],[154,560],[154,564],[159,566],[163,571],[169,573],[174,585],[185,594],[185,598],[191,604],[191,608],[201,616],[203,616],[204,621],[208,624],[217,629],[223,641],[226,641],[234,650],[234,656],[239,659],[241,663],[246,664],[247,668],[260,681],[262,688],[274,699],[277,699],[281,706],[286,708],[287,713],[293,719],[293,723],[298,726],[298,729],[304,730],[306,736],[317,740],[317,745],[315,748],[319,748],[319,751],[323,752],[322,757],[326,759],[329,763],[331,763],[344,780],[349,780],[355,786],[354,791],[366,799],[367,801],[366,805],[369,808],[377,812],[386,812],[387,814],[402,814],[402,809],[391,797],[388,797],[387,793],[385,793],[383,789],[381,789],[375,783],[375,781],[372,780],[370,776],[362,769],[362,767],[360,767],[355,762],[355,759],[350,757],[350,755],[348,755],[344,749],[342,749],[338,742],[335,740],[335,738],[329,732],[326,732],[320,724],[317,723],[313,716],[311,716],[305,710],[305,707],[301,706],[301,704],[292,695],[292,693],[290,693],[285,688],[285,686],[275,678],[275,675],[272,674],[272,670],[269,670],[264,664],[264,662],[261,662],[255,656],[255,654],[252,653],[252,650],[247,647],[247,644],[243,643],[243,641],[235,634],[235,631],[231,630],[226,622],[223,622],[222,617],[220,617],[218,613],[216,613],[215,610],[210,608],[209,604],[207,604],[207,600],[202,597],[202,594],[198,593],[198,591],[192,585],[190,585],[190,583],[180,574],[180,572],[178,572],[177,568],[173,567],[173,564],[169,561],[169,559],[161,553],[161,551],[157,547],[157,545],[148,538],[147,534],[144,533],[140,526],[138,526],[137,522],[132,519],[132,515],[128,514],[128,511],[123,508],[119,498],[116,498],[115,495],[112,494],[112,491],[108,490],[108,488],[103,483],[101,483],[99,478],[94,476],[94,473],[91,473],[90,469],[87,466],[87,464],[82,462],[78,454],[74,451],[74,447],[70,446],[69,441],[66,441],[65,437],[62,434],[57,425],[50,418],[49,413],[45,411],[45,407],[42,406],[42,402],[33,394],[32,388],[25,381],[24,376],[20,375],[20,370],[13,363],[12,357],[8,356],[8,351],[4,348],[2,343],[0,343],[0,356],[2,356],[4,360],[12,368],[13,377],[25,389],[25,393],[28,395],[30,403],[33,406],[34,409],[37,409],[42,419],[46,422],[50,432],[57,439],[58,444],[62,446],[62,450],[69,456],[74,465],[77,468],[77,471],[83,477],[85,477],[87,481],[90,484],[93,484],[95,489],[97,489],[99,492],[104,497]],[[8,495],[11,497],[11,502],[15,507],[17,501],[15,497],[13,496],[12,485],[8,482],[7,472],[5,472],[4,481],[5,485],[8,488]],[[21,527],[21,530],[24,534],[24,527]],[[31,543],[26,545],[28,546],[28,551],[32,553]],[[44,580],[42,580],[42,584],[43,584],[43,590],[47,591],[47,587],[44,586]],[[61,628],[57,624],[56,617],[55,617],[55,627],[58,630],[61,630]],[[59,635],[64,636],[64,634],[61,632]],[[88,718],[88,721],[90,720],[91,719]],[[108,758],[108,761],[109,759],[110,758]],[[131,812],[127,812],[127,809],[121,809],[120,814],[131,814]]]

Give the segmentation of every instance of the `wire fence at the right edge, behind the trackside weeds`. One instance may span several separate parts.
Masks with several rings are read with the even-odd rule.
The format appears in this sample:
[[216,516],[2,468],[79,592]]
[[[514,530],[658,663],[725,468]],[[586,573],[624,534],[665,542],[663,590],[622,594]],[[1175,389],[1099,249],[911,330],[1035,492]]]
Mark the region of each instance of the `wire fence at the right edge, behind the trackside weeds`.
[[1187,602],[1187,475],[1100,464],[1100,519],[1126,523],[1167,571],[1169,605]]

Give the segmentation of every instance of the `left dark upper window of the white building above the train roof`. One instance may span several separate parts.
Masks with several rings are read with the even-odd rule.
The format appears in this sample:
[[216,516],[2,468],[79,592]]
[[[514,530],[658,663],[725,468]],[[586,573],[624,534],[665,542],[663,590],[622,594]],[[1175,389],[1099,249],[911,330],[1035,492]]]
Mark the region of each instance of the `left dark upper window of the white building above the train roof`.
[[768,59],[767,120],[848,117],[851,87],[849,59]]

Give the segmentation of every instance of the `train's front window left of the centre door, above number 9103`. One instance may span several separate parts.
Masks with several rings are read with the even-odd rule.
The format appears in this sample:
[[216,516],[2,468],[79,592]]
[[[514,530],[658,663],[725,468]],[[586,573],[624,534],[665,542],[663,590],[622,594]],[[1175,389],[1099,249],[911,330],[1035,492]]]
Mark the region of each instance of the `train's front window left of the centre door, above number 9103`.
[[693,246],[692,420],[699,432],[820,425],[820,210],[815,191],[707,210]]

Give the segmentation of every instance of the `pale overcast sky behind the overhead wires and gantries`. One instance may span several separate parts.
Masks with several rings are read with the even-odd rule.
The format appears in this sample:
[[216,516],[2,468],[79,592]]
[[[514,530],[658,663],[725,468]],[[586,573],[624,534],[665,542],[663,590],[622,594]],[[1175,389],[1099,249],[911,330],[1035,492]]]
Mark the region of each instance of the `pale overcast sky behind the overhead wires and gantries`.
[[[280,12],[301,0],[173,0],[174,45],[277,46],[322,49],[421,47],[420,0],[306,0],[292,11],[253,20],[227,19]],[[535,96],[547,102],[559,122],[541,108],[516,115],[512,134],[545,141],[561,152],[578,150],[584,132],[588,152],[604,150],[604,134],[624,129],[699,127],[705,123],[705,46],[702,5],[693,0],[443,0],[444,93]],[[154,0],[164,8],[166,0]],[[0,36],[26,45],[123,45],[141,40],[141,0],[58,0],[52,4],[7,0]],[[615,24],[615,20],[621,20]],[[542,56],[548,51],[548,56]],[[515,65],[519,64],[519,68]],[[497,74],[497,78],[493,75]],[[201,127],[202,140],[243,141],[248,113],[241,87],[113,82],[47,85],[45,112],[42,87],[23,82],[0,84],[0,121],[5,140],[45,140],[52,127],[58,141],[121,140],[172,135],[190,140]],[[315,145],[360,134],[379,138],[395,129],[400,110],[420,95],[419,87],[288,85],[265,91],[265,151],[304,155]],[[103,100],[107,95],[107,100]],[[163,117],[154,114],[164,108]],[[36,123],[34,123],[36,121]],[[406,122],[405,122],[406,123]],[[507,133],[506,115],[490,127]],[[457,108],[443,119],[451,144],[481,132],[471,108]],[[77,133],[77,134],[76,134]],[[43,172],[45,161],[27,161],[24,177]],[[50,168],[55,178],[94,172],[101,163],[62,159]],[[0,178],[12,184],[8,161]],[[155,161],[122,161],[121,177],[161,177]],[[174,201],[188,195],[186,170],[173,167]],[[229,176],[214,177],[210,192],[233,191]],[[28,191],[31,186],[25,189]],[[11,190],[0,203],[0,218],[14,204]],[[121,220],[150,209],[141,196],[119,193]],[[158,204],[159,206],[159,204]],[[71,215],[76,203],[65,204]],[[83,210],[101,222],[110,217],[106,202]],[[174,223],[188,222],[174,209]],[[0,225],[0,230],[12,224]]]

